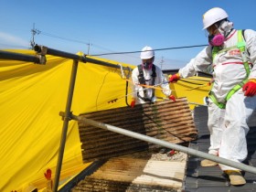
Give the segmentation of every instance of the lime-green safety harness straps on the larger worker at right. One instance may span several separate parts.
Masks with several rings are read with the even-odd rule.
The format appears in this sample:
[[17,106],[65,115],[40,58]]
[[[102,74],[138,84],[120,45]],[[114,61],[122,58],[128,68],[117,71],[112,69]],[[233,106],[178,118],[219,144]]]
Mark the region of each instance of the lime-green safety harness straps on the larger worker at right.
[[211,101],[213,101],[217,106],[219,106],[220,109],[225,109],[226,107],[226,102],[229,101],[229,99],[231,98],[231,96],[240,90],[240,88],[242,88],[242,86],[248,81],[248,77],[250,75],[250,67],[249,67],[249,63],[248,63],[248,59],[246,57],[245,54],[245,41],[243,40],[243,35],[242,35],[243,30],[238,30],[238,43],[236,47],[231,47],[231,48],[225,48],[219,51],[218,47],[214,47],[212,50],[212,57],[213,59],[215,58],[215,56],[217,54],[219,54],[220,52],[224,52],[227,51],[229,49],[232,48],[239,48],[240,49],[240,55],[241,55],[241,59],[243,62],[243,66],[244,69],[246,70],[246,79],[242,80],[239,84],[237,84],[235,87],[232,88],[232,90],[230,90],[225,98],[225,102],[219,102],[216,99],[216,96],[213,94],[212,91],[209,92],[209,98],[211,99]]

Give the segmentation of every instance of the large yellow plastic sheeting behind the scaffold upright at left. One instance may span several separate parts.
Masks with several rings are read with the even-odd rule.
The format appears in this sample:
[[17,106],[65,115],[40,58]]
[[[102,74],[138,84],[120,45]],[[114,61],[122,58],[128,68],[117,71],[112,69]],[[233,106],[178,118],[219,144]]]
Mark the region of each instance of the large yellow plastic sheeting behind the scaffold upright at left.
[[[63,126],[59,112],[66,109],[72,64],[53,56],[46,65],[0,59],[0,191],[20,191],[25,184],[40,188],[48,168],[54,177]],[[125,106],[125,85],[120,69],[80,62],[71,112]],[[77,174],[82,165],[78,124],[69,121],[60,179]]]

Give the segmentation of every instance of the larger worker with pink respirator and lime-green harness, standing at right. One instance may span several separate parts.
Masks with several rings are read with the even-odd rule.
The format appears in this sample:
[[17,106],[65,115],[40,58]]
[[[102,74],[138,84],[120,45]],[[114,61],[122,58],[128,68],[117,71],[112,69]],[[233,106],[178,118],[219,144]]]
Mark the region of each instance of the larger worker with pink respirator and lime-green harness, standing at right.
[[[169,81],[193,76],[212,65],[214,82],[208,97],[208,153],[242,162],[248,153],[247,123],[256,108],[256,32],[234,29],[226,11],[219,7],[205,13],[203,24],[208,30],[208,47],[170,76]],[[218,164],[205,159],[201,165]],[[246,183],[237,168],[219,166],[229,176],[231,185]]]

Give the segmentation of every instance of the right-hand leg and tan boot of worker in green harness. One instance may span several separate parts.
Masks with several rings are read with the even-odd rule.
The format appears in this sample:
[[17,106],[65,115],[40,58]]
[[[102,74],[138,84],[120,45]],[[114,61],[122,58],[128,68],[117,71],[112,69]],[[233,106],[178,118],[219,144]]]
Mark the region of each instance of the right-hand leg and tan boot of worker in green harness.
[[[256,106],[256,97],[244,97],[243,92],[236,92],[226,104],[225,130],[222,133],[219,156],[235,162],[242,162],[247,157],[246,134],[249,132],[247,124]],[[238,168],[219,165],[229,175],[232,185],[246,183]]]

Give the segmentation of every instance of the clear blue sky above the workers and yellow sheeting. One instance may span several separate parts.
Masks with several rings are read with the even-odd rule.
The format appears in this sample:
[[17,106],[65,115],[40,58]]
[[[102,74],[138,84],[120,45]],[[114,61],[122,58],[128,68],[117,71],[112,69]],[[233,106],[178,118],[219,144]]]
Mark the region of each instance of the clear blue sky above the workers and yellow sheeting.
[[[202,15],[219,6],[235,28],[256,30],[255,0],[1,0],[0,48],[29,48],[35,42],[69,53],[97,55],[208,44]],[[89,46],[90,45],[90,49]],[[202,48],[155,51],[162,69],[183,67]],[[137,65],[139,53],[101,58]]]

